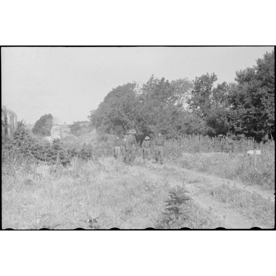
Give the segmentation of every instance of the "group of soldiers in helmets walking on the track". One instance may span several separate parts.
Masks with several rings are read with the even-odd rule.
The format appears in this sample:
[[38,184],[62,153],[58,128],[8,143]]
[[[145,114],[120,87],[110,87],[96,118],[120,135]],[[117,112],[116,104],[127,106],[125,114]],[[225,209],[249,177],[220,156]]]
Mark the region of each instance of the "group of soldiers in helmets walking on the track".
[[[138,149],[138,144],[135,138],[136,130],[130,130],[125,137],[120,140],[119,137],[115,138],[114,157],[117,159],[121,151],[126,164],[133,164],[135,160],[135,151]],[[164,138],[161,133],[152,142],[148,136],[146,136],[142,142],[143,160],[150,160],[150,153],[152,150],[155,152],[155,162],[163,164],[164,155]]]

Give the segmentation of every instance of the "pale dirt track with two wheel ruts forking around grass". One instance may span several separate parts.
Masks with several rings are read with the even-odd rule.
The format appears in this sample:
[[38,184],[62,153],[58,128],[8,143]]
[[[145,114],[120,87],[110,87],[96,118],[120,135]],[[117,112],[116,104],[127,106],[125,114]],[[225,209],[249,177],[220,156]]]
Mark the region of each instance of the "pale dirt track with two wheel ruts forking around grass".
[[133,175],[137,176],[143,173],[149,178],[156,180],[167,179],[171,187],[184,184],[194,202],[202,208],[211,210],[216,215],[221,217],[223,221],[223,225],[221,225],[221,227],[226,229],[250,229],[252,227],[258,227],[258,225],[256,225],[255,220],[247,218],[238,213],[235,209],[231,208],[230,204],[219,202],[211,196],[201,194],[200,190],[203,187],[217,187],[227,184],[230,187],[242,188],[248,192],[256,192],[266,199],[275,200],[273,194],[256,187],[236,183],[213,175],[206,175],[179,168],[173,163],[163,166],[156,164],[148,164],[147,166],[136,165],[130,167],[130,170]]

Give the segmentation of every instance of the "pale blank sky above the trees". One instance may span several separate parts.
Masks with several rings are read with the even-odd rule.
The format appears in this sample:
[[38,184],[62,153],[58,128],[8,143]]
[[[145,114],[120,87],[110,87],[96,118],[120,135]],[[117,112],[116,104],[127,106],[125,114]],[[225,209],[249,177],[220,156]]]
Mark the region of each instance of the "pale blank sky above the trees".
[[34,124],[51,113],[59,123],[88,120],[108,92],[146,82],[215,73],[233,82],[235,71],[256,64],[273,47],[4,47],[1,100],[18,120]]

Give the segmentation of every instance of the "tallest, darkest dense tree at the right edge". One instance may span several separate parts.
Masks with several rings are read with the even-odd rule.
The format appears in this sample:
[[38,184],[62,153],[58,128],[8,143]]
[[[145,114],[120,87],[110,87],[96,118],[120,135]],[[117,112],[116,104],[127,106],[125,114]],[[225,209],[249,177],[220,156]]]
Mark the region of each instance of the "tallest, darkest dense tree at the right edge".
[[229,104],[232,132],[261,140],[275,134],[275,53],[266,53],[257,65],[236,72]]

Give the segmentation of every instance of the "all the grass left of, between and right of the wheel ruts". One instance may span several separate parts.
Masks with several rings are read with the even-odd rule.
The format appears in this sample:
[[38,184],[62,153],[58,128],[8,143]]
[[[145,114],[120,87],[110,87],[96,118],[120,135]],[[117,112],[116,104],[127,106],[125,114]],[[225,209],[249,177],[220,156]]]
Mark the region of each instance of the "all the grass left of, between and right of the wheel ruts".
[[[140,149],[136,165],[127,166],[112,157],[109,142],[112,137],[91,145],[90,158],[86,155],[88,148],[82,144],[96,141],[95,137],[92,133],[72,138],[68,133],[63,146],[80,148],[79,157],[72,157],[65,166],[59,159],[49,163],[2,151],[2,228],[214,229],[223,226],[222,216],[212,208],[203,208],[189,196],[180,205],[176,204],[187,196],[181,192],[186,185],[197,187],[197,195],[210,201],[227,202],[235,212],[256,221],[256,226],[274,226],[274,203],[258,194],[225,185],[208,186],[204,179],[194,175],[184,178],[169,166],[145,165],[140,159]],[[274,143],[259,144],[262,155],[258,156],[254,170],[252,156],[240,150],[245,142],[233,144],[232,150],[226,152],[219,140],[210,139],[206,146],[204,139],[167,141],[166,162],[274,191]],[[246,143],[250,149],[251,141]],[[88,157],[81,158],[82,154]],[[176,175],[181,180],[177,190],[171,185]]]

